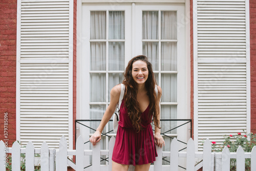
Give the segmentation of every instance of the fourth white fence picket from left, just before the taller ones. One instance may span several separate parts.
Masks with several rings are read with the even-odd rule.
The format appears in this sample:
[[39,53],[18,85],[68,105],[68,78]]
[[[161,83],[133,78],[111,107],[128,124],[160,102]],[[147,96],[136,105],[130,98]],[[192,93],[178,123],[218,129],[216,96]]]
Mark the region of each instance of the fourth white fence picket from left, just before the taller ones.
[[46,142],[43,142],[40,149],[41,171],[48,171],[49,165],[49,147]]

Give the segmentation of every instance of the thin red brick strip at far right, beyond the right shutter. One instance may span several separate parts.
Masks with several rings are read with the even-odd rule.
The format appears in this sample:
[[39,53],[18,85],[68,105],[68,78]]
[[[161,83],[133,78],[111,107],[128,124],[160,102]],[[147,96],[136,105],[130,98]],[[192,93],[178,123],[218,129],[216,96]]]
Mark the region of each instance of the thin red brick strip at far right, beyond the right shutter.
[[251,132],[256,133],[256,1],[250,0]]

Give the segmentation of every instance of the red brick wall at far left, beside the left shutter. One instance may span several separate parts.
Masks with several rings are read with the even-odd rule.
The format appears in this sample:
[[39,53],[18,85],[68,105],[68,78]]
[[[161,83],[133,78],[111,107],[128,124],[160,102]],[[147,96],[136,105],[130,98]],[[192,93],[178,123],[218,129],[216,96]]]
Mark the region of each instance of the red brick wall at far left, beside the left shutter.
[[[17,1],[1,0],[0,11],[0,140],[8,139],[11,146],[16,140]],[[5,113],[8,113],[8,137],[4,135]]]

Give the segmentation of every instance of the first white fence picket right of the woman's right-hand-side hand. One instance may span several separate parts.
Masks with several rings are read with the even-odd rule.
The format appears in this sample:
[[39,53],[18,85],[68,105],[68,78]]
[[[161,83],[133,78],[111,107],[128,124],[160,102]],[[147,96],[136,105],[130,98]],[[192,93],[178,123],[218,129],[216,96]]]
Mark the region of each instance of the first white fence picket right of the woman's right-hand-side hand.
[[170,170],[178,171],[179,168],[179,148],[178,141],[176,138],[170,143]]

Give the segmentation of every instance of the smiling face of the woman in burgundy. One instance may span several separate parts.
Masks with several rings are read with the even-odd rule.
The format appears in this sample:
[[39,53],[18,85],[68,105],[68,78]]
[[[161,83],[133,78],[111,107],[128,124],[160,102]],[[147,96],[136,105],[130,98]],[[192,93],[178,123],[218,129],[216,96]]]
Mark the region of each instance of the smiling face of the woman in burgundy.
[[148,69],[146,62],[137,60],[133,62],[132,75],[135,82],[143,84],[146,82],[148,77]]

